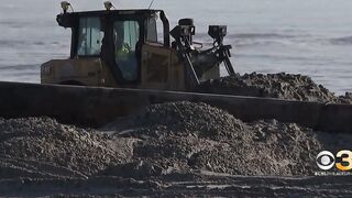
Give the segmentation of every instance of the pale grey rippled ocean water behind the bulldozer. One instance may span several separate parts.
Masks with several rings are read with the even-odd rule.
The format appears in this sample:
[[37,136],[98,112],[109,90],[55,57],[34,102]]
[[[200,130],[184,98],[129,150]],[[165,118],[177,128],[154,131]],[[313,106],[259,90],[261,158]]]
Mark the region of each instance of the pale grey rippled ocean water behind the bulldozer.
[[[40,81],[40,65],[69,55],[70,31],[57,25],[58,0],[1,0],[0,80]],[[103,1],[72,0],[75,11],[103,9]],[[150,0],[112,1],[147,8]],[[352,91],[352,1],[155,0],[172,26],[193,18],[196,41],[209,43],[209,24],[228,25],[235,70],[310,76],[338,95]]]

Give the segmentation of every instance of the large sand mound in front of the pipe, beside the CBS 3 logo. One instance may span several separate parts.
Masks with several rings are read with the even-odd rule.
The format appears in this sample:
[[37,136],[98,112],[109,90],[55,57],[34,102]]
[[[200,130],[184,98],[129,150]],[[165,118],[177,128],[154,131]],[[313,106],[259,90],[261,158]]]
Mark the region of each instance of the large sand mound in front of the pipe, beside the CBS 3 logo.
[[310,175],[322,147],[310,129],[275,120],[244,123],[223,110],[191,102],[151,106],[105,130],[143,140],[134,146],[132,167],[106,172],[129,177],[136,169],[148,173],[139,172],[138,177],[191,170]]

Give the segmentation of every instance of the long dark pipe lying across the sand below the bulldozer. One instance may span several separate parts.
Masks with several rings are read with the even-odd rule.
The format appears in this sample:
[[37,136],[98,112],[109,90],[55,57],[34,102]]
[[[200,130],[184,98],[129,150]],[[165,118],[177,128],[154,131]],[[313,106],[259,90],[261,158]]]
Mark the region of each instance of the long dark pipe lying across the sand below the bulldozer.
[[117,117],[168,101],[206,102],[243,121],[276,119],[315,130],[352,132],[352,106],[164,90],[0,82],[0,117],[51,117],[99,127]]

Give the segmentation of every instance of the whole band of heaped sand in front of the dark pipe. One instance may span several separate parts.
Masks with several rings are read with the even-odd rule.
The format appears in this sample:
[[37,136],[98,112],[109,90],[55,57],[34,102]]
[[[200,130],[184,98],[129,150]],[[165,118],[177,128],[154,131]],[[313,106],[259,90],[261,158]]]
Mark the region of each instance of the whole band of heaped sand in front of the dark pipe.
[[200,170],[311,175],[320,151],[351,142],[351,135],[275,120],[244,123],[193,102],[150,106],[98,131],[47,118],[0,119],[0,177],[175,179],[175,174]]

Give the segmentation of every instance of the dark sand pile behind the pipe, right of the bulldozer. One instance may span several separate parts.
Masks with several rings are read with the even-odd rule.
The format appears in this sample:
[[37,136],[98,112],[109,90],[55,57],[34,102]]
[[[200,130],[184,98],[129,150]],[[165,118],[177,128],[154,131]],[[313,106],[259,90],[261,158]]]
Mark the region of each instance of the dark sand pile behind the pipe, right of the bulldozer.
[[336,97],[308,76],[278,74],[245,74],[205,81],[200,92],[283,98],[301,101],[352,103],[351,94]]

